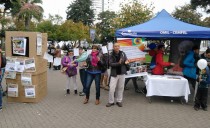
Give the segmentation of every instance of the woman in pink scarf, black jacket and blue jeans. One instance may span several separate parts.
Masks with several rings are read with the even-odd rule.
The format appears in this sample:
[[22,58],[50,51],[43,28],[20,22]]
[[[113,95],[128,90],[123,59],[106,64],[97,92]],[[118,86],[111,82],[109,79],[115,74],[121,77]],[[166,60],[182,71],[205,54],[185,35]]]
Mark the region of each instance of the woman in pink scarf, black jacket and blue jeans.
[[95,79],[95,86],[96,86],[96,101],[95,104],[100,104],[100,80],[101,80],[101,69],[100,67],[103,65],[103,61],[100,59],[102,58],[102,54],[98,51],[98,46],[92,46],[92,52],[88,56],[86,63],[87,63],[87,82],[86,82],[86,98],[84,100],[84,104],[87,104],[89,101],[90,96],[90,87]]

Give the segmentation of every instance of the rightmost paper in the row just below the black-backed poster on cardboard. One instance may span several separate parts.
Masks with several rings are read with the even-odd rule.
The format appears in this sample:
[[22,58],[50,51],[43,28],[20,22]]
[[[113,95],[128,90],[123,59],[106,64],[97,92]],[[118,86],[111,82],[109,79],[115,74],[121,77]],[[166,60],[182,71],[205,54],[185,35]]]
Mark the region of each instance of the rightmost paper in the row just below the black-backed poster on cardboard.
[[25,71],[26,72],[35,72],[36,71],[34,58],[25,59]]

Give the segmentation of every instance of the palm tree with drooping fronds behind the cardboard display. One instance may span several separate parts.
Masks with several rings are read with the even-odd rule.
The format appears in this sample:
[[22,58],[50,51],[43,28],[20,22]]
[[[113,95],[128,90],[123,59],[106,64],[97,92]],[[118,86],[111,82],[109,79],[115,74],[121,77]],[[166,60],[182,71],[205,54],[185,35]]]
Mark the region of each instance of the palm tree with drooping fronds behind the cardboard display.
[[32,18],[40,21],[43,17],[43,8],[37,4],[42,3],[42,0],[17,0],[13,2],[15,5],[12,8],[12,15],[17,16],[18,19],[24,19],[25,29],[30,29],[30,22]]

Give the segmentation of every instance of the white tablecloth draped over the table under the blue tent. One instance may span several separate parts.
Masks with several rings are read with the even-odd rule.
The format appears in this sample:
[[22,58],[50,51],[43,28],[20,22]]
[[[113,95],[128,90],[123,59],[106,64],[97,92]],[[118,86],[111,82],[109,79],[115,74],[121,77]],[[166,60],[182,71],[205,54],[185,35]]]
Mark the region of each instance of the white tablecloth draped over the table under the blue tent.
[[181,76],[148,75],[146,80],[146,88],[147,88],[147,95],[146,95],[147,97],[184,96],[186,102],[188,102],[188,95],[190,94],[188,81],[187,79]]

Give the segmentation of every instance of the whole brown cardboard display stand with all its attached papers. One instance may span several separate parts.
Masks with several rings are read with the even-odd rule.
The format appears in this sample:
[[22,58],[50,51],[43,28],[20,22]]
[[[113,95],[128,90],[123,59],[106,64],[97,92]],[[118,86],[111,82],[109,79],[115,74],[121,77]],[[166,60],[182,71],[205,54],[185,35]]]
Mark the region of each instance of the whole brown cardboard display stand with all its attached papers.
[[47,34],[7,31],[5,47],[8,102],[39,102],[47,94]]

